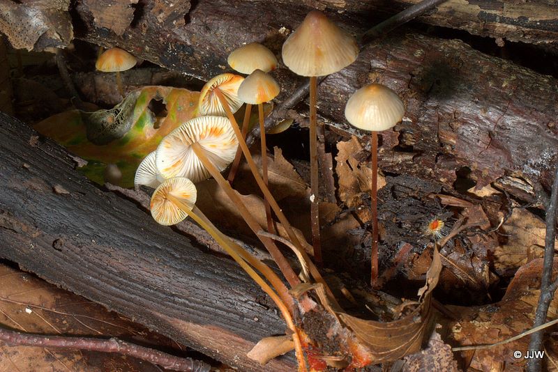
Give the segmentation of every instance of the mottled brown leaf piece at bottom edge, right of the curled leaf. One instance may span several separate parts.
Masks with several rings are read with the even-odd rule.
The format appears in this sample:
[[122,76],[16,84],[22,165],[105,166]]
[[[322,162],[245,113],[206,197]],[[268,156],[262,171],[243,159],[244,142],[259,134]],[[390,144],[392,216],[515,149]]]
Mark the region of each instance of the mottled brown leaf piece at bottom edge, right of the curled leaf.
[[403,365],[402,371],[458,372],[458,364],[453,359],[451,346],[442,341],[438,332],[433,332],[428,341],[428,348],[405,357],[405,364]]

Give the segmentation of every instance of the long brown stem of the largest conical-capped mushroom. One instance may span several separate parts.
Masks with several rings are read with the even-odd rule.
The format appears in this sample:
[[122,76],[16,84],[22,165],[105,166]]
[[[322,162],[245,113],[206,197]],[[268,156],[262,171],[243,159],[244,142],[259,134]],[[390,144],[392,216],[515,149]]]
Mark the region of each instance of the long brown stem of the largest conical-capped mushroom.
[[317,144],[317,78],[310,77],[310,222],[312,226],[312,247],[317,265],[322,265],[322,242],[319,239],[319,176]]

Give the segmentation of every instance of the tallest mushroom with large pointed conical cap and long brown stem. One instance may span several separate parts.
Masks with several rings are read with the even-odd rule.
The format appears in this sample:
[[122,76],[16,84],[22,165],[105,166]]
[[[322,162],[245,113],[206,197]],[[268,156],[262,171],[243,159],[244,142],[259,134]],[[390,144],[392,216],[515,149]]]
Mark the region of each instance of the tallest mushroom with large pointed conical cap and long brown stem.
[[287,38],[282,47],[283,63],[297,75],[310,77],[310,189],[312,198],[312,245],[314,258],[322,263],[319,240],[317,164],[317,77],[333,74],[354,62],[359,55],[356,40],[327,19],[324,13],[312,10]]

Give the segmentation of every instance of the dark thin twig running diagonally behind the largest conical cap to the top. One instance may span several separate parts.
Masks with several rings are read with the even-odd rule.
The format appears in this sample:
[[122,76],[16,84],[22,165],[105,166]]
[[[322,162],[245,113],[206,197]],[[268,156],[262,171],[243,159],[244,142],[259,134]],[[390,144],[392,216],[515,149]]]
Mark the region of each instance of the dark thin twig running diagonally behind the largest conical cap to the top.
[[[372,42],[372,40],[375,40],[375,38],[380,38],[389,33],[389,31],[396,29],[402,24],[405,24],[414,19],[415,17],[423,15],[425,12],[428,12],[428,10],[432,10],[440,3],[444,3],[444,1],[447,0],[423,0],[420,3],[415,4],[414,6],[410,6],[402,12],[393,15],[393,17],[388,18],[384,22],[377,24],[376,26],[372,27],[372,29],[366,31],[363,34],[363,36],[361,37],[361,48]],[[319,77],[318,84],[320,84],[324,79],[325,77]],[[276,122],[280,118],[285,118],[287,116],[287,111],[295,107],[296,104],[302,102],[302,100],[306,98],[309,92],[310,82],[308,81],[296,88],[291,93],[291,95],[289,95],[288,98],[278,104],[276,109],[273,110],[273,113],[266,118],[266,130],[269,130],[271,127],[276,125]],[[257,137],[259,137],[259,127],[255,127],[252,132],[248,134],[248,137],[246,137],[246,143],[248,144],[248,146],[251,146]]]

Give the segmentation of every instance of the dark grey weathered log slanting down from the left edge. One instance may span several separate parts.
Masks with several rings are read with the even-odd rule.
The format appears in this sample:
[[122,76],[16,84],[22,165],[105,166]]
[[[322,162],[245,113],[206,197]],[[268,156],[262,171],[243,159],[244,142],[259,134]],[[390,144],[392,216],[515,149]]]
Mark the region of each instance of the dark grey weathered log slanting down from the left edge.
[[74,170],[66,150],[0,113],[0,258],[241,371],[259,339],[285,333],[262,290],[223,255],[160,226]]

